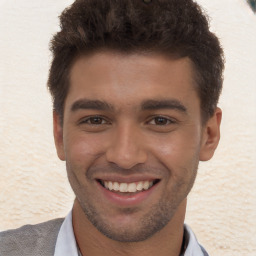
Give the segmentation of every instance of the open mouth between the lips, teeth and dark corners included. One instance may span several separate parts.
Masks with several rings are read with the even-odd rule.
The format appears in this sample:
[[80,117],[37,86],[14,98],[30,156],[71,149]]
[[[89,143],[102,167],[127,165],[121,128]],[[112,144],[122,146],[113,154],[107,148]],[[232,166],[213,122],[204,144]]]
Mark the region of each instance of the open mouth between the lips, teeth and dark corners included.
[[105,189],[122,193],[122,194],[130,194],[130,193],[137,193],[142,191],[147,191],[156,185],[160,180],[146,180],[146,181],[137,181],[131,183],[125,182],[117,182],[117,181],[108,181],[108,180],[97,180],[99,184],[104,187]]

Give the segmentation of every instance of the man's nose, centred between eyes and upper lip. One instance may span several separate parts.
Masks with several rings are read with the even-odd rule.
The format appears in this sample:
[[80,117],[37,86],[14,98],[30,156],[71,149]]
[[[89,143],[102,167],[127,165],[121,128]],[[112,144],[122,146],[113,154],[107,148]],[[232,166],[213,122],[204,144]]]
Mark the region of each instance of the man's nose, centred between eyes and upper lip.
[[108,162],[123,169],[131,169],[137,164],[145,163],[147,152],[137,129],[131,125],[116,128],[107,149],[106,158]]

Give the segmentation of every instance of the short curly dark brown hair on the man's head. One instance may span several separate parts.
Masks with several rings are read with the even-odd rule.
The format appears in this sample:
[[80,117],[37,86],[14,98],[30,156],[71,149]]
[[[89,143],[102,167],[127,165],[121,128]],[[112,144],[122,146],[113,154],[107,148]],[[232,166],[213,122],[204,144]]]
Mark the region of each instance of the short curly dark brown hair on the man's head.
[[189,57],[203,120],[213,115],[223,83],[223,50],[192,0],[76,0],[61,14],[60,26],[50,46],[48,88],[61,117],[72,64],[82,54],[104,49]]

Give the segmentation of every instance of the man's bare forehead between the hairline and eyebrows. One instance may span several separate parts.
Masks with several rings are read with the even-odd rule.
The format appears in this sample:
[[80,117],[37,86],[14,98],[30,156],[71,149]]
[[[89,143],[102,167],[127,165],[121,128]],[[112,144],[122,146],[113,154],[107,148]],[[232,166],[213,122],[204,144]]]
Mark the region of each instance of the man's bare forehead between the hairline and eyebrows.
[[192,95],[197,97],[188,58],[101,52],[76,60],[66,104],[87,98],[124,106],[154,98],[186,100]]

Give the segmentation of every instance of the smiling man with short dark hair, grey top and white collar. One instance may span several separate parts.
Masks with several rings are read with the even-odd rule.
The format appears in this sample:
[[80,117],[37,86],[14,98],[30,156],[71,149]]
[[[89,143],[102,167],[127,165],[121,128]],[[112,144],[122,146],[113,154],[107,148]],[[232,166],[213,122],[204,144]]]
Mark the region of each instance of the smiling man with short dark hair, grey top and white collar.
[[184,225],[218,145],[223,53],[191,0],[77,0],[48,87],[70,214],[0,235],[0,255],[208,255]]

